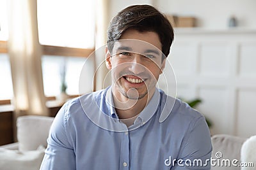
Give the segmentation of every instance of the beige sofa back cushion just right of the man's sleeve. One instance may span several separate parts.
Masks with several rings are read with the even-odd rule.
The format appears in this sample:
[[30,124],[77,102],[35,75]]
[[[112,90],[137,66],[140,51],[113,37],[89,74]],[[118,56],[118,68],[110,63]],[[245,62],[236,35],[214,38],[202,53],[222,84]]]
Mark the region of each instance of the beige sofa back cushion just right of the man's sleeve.
[[232,166],[232,160],[237,159],[239,160],[239,163],[241,162],[241,146],[245,140],[245,138],[239,138],[237,136],[230,136],[227,134],[217,134],[212,136],[212,159],[216,159],[216,163],[218,163],[218,160],[221,162],[221,160],[229,159],[231,166],[226,167],[224,162],[224,166],[216,165],[212,166],[211,169],[240,169],[240,167]]

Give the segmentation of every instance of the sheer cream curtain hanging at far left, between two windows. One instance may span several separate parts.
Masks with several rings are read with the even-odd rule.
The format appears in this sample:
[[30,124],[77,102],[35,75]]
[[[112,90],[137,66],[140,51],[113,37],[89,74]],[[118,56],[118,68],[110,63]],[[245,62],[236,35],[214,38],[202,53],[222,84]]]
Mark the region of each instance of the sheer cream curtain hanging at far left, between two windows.
[[36,0],[10,0],[8,53],[10,55],[15,118],[48,115],[38,42]]

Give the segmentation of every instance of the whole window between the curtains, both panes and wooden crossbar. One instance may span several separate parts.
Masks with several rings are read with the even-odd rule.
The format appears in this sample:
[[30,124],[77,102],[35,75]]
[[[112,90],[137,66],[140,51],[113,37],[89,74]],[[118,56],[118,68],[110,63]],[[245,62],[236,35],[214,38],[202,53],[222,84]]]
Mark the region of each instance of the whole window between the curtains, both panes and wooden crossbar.
[[[66,66],[67,94],[79,94],[79,76],[85,57],[93,52],[95,36],[94,1],[38,0],[38,36],[44,45],[42,73],[45,96],[61,92],[61,67]],[[61,5],[60,5],[61,4]],[[72,57],[70,57],[72,56]],[[81,57],[74,57],[81,56]],[[86,65],[87,66],[87,65]],[[92,67],[88,78],[92,80]],[[92,91],[92,85],[88,85]]]

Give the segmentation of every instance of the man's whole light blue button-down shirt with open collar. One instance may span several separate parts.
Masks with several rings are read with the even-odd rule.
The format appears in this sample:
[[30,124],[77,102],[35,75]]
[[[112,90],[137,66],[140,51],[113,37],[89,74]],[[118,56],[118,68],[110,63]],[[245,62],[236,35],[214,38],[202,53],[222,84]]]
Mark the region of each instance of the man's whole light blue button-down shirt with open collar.
[[127,127],[118,119],[109,92],[108,87],[86,94],[61,108],[42,170],[210,169],[211,137],[198,111],[156,89]]

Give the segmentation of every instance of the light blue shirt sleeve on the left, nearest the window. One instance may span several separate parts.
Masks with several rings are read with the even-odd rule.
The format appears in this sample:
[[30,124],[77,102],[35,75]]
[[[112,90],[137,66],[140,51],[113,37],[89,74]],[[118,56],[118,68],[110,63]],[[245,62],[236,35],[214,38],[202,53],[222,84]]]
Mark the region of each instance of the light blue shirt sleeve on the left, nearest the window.
[[65,125],[67,124],[67,109],[65,104],[54,118],[47,148],[42,161],[41,170],[72,170],[76,169],[76,156],[71,140],[68,139]]

